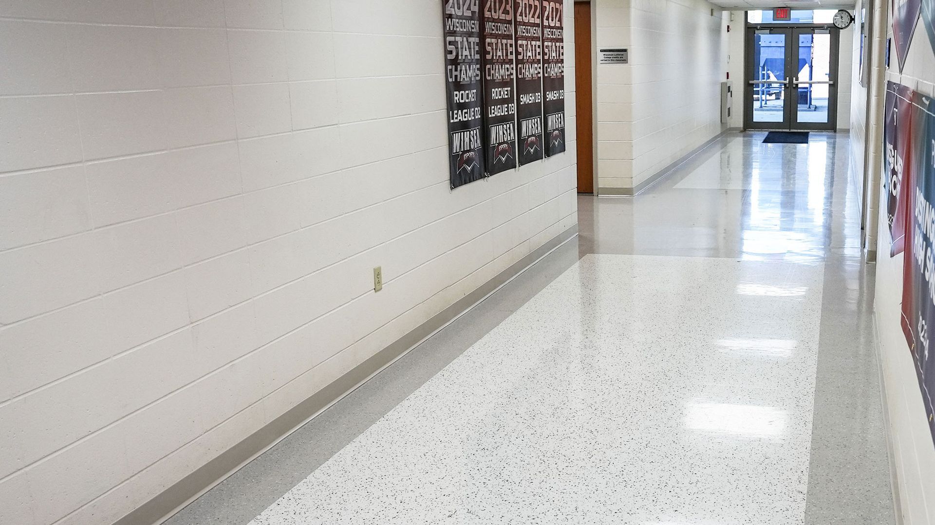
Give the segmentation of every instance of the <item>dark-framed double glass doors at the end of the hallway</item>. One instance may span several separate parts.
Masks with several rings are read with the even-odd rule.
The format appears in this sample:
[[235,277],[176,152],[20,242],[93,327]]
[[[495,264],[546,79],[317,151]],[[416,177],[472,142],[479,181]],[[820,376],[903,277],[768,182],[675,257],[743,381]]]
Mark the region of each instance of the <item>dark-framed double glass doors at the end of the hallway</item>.
[[833,131],[839,37],[833,27],[748,27],[745,127]]

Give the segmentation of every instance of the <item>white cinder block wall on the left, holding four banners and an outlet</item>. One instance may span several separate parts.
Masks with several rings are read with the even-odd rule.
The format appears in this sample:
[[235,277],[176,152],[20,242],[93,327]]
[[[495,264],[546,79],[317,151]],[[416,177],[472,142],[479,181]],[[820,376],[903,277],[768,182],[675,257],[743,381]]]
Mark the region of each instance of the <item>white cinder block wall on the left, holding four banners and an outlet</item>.
[[573,143],[449,190],[440,13],[0,1],[0,523],[121,518],[576,223]]

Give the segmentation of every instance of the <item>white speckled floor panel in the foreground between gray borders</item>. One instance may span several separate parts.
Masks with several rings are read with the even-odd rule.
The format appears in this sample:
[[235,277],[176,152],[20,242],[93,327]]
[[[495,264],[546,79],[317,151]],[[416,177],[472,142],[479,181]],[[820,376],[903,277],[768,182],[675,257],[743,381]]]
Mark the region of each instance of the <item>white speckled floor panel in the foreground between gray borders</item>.
[[800,524],[822,283],[587,255],[252,523]]

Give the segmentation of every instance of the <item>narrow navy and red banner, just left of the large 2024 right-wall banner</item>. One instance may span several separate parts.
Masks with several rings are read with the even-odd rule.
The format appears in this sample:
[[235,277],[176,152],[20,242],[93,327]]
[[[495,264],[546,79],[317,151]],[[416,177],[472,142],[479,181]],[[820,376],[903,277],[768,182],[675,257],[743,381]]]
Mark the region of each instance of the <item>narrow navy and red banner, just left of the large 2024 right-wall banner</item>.
[[885,102],[885,159],[884,194],[886,195],[886,224],[889,226],[889,256],[902,253],[905,242],[906,206],[901,206],[905,197],[901,184],[903,172],[913,144],[910,133],[913,119],[913,90],[897,84],[886,83]]

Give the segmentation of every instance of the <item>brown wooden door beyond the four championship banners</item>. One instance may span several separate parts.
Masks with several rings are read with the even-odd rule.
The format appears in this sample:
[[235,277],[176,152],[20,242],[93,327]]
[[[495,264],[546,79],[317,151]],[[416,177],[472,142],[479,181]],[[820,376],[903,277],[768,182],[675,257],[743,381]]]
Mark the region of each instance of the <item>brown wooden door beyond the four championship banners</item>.
[[575,129],[578,192],[594,193],[594,113],[591,83],[591,3],[575,2]]

